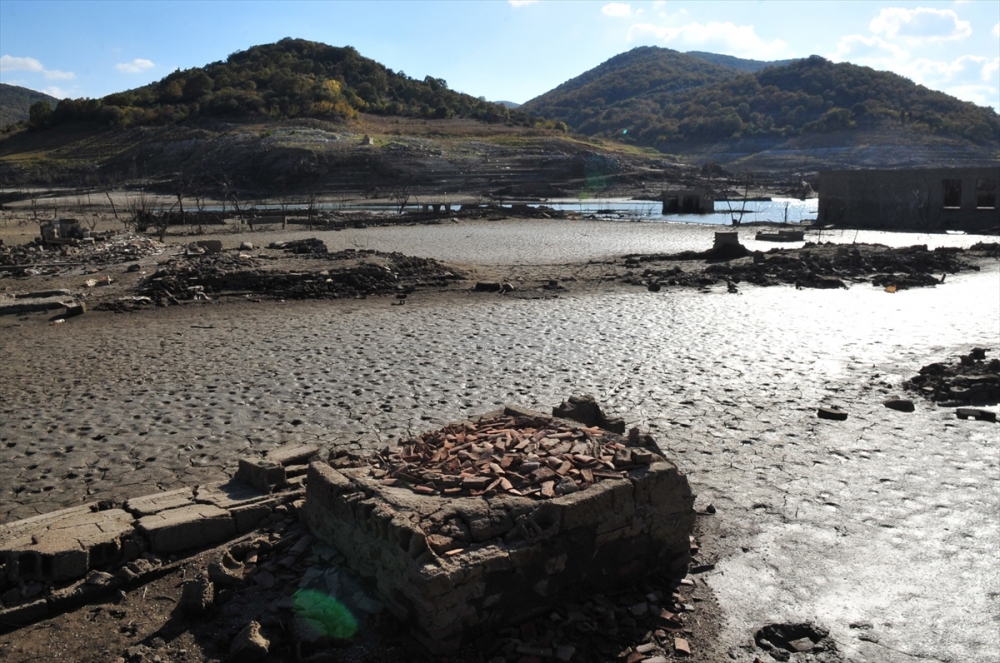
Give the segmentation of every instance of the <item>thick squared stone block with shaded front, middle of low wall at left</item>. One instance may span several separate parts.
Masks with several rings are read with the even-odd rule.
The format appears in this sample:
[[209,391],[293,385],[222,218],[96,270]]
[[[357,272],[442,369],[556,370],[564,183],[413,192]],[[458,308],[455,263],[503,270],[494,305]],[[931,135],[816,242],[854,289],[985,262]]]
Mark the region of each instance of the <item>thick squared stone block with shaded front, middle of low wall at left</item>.
[[139,530],[154,553],[170,554],[225,541],[236,535],[236,522],[214,504],[195,504],[145,516]]

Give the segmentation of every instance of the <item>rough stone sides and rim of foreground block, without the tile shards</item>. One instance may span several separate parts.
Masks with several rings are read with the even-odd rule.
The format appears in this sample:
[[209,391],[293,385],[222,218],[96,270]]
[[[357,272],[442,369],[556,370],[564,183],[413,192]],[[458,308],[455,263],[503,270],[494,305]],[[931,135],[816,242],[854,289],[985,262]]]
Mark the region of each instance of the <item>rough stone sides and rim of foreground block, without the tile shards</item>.
[[672,463],[636,451],[651,462],[548,500],[418,494],[314,460],[302,517],[442,652],[569,596],[686,568],[694,496]]

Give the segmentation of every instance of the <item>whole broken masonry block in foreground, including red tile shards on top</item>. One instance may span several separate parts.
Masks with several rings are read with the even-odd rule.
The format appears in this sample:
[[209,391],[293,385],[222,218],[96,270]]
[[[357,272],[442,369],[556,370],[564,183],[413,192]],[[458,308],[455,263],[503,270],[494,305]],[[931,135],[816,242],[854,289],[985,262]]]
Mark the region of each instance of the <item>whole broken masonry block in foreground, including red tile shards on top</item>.
[[356,465],[314,460],[303,518],[432,651],[690,559],[694,496],[637,430],[507,407]]

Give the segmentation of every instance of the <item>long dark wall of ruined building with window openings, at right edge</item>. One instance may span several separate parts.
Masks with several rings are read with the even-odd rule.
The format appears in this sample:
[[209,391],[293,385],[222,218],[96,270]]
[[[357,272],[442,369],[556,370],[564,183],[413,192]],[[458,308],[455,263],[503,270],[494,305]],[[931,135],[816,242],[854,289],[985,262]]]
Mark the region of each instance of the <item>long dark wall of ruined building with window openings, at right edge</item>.
[[[1000,167],[828,170],[819,177],[820,224],[908,230],[984,230],[1000,225]],[[956,182],[960,194],[953,186]],[[989,183],[992,200],[984,201]],[[954,199],[946,201],[949,188]],[[984,202],[989,206],[981,206]]]

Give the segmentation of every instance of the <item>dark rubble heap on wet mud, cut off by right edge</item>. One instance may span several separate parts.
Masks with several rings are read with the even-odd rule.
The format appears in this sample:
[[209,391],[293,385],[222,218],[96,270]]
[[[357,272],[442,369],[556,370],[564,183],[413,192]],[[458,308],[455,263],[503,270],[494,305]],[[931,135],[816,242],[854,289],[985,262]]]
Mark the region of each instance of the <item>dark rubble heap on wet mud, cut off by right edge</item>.
[[984,348],[973,348],[953,364],[928,364],[903,386],[940,403],[998,403],[1000,359],[987,360],[986,353]]

